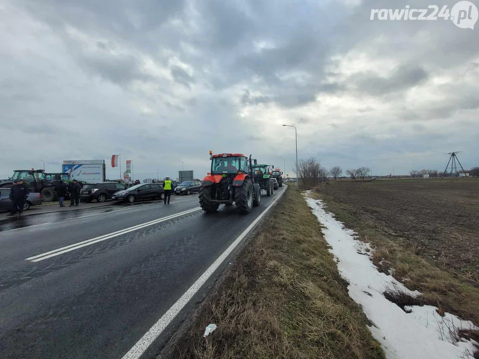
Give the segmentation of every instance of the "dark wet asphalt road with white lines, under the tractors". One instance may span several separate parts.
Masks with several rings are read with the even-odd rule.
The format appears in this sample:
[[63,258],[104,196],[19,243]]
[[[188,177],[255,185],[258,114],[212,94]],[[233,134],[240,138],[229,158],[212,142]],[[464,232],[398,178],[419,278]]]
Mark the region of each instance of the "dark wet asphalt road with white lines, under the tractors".
[[284,189],[248,215],[190,195],[0,224],[0,358],[154,358]]

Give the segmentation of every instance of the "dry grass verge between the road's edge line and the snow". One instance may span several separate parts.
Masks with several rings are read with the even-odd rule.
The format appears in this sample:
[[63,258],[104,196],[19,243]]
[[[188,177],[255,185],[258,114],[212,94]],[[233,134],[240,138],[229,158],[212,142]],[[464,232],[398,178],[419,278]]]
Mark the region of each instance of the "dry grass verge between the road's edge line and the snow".
[[162,358],[384,358],[368,324],[290,188]]

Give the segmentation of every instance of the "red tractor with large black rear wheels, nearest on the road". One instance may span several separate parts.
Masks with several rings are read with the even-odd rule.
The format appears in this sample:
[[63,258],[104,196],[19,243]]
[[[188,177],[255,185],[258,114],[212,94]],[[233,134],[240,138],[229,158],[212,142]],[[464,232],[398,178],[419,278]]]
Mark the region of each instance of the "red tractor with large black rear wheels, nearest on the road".
[[251,156],[242,154],[213,155],[210,151],[211,172],[203,179],[199,197],[201,208],[217,211],[220,204],[236,204],[240,213],[249,213],[261,200],[261,188],[254,183]]

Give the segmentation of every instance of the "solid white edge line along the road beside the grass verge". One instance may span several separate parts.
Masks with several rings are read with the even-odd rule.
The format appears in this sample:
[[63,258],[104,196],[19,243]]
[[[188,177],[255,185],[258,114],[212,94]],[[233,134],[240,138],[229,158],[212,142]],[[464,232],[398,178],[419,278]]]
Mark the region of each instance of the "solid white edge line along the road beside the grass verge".
[[183,294],[178,301],[171,306],[170,309],[156,322],[153,327],[129,350],[122,359],[139,359],[148,347],[157,339],[170,322],[177,316],[183,307],[190,301],[198,290],[206,283],[208,278],[218,269],[223,261],[231,254],[231,252],[240,244],[243,238],[253,229],[261,218],[269,211],[269,209],[281,198],[284,191],[273,200],[273,202],[240,234],[240,236],[225,250],[217,260],[201,275],[198,280]]

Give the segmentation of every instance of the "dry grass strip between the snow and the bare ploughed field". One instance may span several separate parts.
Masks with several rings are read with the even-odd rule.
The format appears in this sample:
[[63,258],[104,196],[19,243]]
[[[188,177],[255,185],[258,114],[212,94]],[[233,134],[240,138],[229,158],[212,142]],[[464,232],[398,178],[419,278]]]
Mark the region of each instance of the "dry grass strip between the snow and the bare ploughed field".
[[[391,235],[392,232],[374,218],[363,215],[361,210],[336,201],[333,196],[316,188],[315,198],[323,199],[327,209],[346,227],[353,229],[363,242],[375,250],[372,261],[380,271],[388,274],[394,268],[393,277],[411,290],[419,290],[422,296],[415,301],[438,307],[438,313],[449,312],[479,326],[479,286],[462,279],[452,268],[440,268],[436,262],[420,255],[420,248],[411,245],[406,238]],[[387,266],[384,266],[387,263]],[[399,306],[402,306],[398,301]],[[404,296],[399,302],[404,302]],[[479,333],[476,333],[478,335]]]

